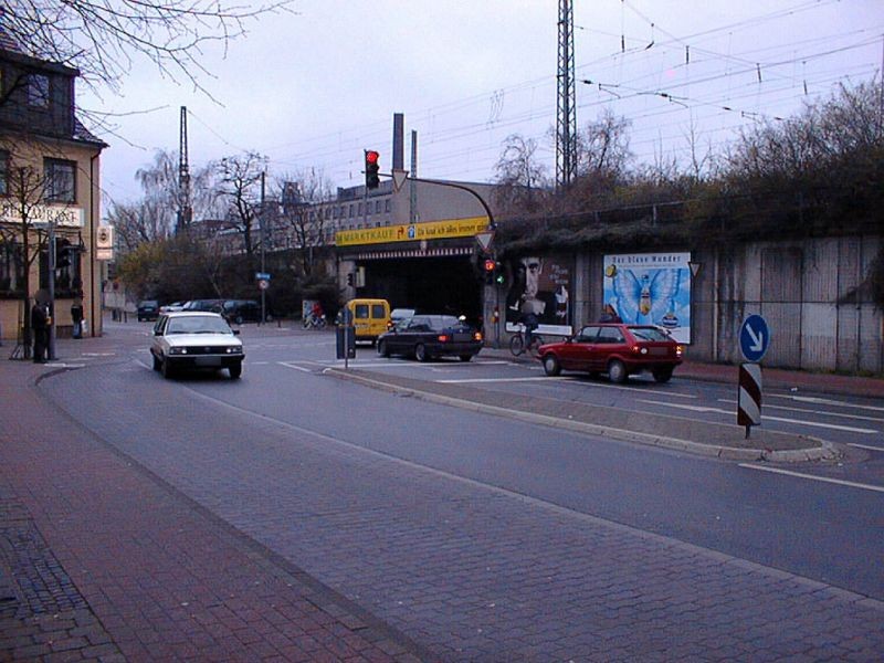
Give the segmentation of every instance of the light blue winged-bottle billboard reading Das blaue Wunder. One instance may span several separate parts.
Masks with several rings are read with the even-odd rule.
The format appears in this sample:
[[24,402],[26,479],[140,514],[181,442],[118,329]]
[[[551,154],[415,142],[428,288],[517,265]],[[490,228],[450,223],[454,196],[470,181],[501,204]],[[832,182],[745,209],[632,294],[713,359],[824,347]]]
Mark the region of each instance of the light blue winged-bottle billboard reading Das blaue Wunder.
[[604,314],[624,323],[660,325],[691,343],[690,253],[604,256]]

